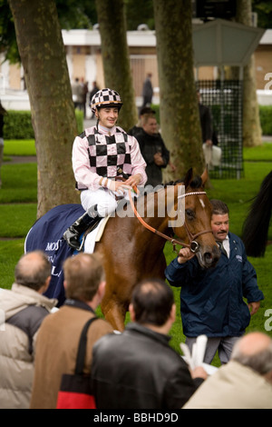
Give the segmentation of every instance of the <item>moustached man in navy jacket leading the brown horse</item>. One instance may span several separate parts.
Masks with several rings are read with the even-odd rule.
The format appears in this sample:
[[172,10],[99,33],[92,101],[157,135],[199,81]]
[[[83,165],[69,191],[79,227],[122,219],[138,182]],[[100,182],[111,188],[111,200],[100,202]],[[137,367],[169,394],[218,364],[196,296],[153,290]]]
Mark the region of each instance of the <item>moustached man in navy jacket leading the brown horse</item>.
[[204,334],[208,337],[204,362],[212,362],[219,350],[220,361],[226,363],[264,295],[257,287],[256,271],[248,261],[244,244],[228,231],[227,204],[210,202],[211,229],[219,246],[223,244],[216,267],[203,270],[194,253],[182,248],[166,268],[165,276],[171,286],[181,287],[181,320],[190,351],[196,338]]

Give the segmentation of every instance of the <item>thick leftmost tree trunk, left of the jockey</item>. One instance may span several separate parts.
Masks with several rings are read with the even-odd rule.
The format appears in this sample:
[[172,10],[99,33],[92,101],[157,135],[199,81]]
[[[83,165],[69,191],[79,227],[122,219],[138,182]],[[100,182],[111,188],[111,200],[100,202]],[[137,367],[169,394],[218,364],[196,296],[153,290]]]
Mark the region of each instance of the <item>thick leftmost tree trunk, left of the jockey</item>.
[[61,28],[53,0],[9,0],[24,66],[38,165],[37,217],[79,202],[71,164],[76,121]]

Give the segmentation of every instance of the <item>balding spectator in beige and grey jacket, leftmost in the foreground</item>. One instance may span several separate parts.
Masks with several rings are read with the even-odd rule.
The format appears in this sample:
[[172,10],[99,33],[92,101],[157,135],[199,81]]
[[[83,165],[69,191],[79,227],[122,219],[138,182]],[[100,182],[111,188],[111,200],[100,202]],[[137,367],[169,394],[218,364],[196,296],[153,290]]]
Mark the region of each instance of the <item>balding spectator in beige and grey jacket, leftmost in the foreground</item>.
[[43,293],[51,263],[42,252],[26,253],[15,267],[11,290],[0,291],[0,408],[27,409],[34,376],[39,327],[57,303]]

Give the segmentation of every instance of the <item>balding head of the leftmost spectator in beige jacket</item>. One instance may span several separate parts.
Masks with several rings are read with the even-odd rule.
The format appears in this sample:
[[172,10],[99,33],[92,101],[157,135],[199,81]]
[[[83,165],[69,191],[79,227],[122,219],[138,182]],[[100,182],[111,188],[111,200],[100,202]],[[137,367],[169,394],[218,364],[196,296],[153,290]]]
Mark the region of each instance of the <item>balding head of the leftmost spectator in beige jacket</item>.
[[42,251],[24,254],[15,266],[15,283],[39,291],[51,277],[51,263]]

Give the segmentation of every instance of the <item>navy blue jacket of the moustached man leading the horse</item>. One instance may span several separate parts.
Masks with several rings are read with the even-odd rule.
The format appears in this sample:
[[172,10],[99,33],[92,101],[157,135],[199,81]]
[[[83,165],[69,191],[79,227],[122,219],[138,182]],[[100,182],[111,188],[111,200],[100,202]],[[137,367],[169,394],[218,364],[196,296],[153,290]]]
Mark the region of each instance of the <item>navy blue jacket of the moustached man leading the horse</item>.
[[244,244],[233,233],[228,237],[229,259],[222,253],[216,267],[203,269],[196,257],[183,264],[175,258],[165,270],[170,285],[181,286],[181,320],[188,337],[240,336],[250,322],[243,297],[248,303],[264,299]]

